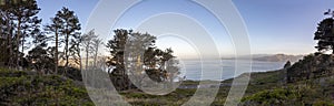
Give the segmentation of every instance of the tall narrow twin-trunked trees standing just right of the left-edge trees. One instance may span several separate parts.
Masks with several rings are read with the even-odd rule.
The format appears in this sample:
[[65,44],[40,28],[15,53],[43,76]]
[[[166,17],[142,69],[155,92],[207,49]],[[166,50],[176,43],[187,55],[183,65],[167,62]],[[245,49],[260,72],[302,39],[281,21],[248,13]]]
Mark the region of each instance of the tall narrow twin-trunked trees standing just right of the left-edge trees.
[[[57,12],[55,18],[51,18],[52,24],[47,25],[47,30],[55,33],[56,36],[56,72],[58,71],[58,47],[60,42],[65,42],[63,49],[63,59],[65,59],[65,73],[67,73],[67,67],[69,66],[69,56],[70,56],[70,44],[78,43],[77,41],[80,38],[79,30],[81,25],[79,23],[78,17],[75,14],[73,11],[69,10],[68,8],[62,8],[60,11]],[[63,36],[60,39],[60,36]],[[75,49],[75,45],[72,49]],[[71,53],[72,54],[72,53]],[[65,74],[62,73],[62,74]]]

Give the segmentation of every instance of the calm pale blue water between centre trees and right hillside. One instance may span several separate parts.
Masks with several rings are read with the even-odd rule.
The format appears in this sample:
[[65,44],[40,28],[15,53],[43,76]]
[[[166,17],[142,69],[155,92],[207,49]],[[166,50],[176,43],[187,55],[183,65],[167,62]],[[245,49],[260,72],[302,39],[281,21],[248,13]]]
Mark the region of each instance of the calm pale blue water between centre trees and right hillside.
[[[247,65],[248,64],[248,65]],[[279,70],[284,66],[285,62],[258,62],[253,61],[249,66],[249,61],[238,60],[187,60],[180,61],[181,75],[186,80],[200,81],[200,80],[227,80],[238,76],[246,72],[266,72]]]

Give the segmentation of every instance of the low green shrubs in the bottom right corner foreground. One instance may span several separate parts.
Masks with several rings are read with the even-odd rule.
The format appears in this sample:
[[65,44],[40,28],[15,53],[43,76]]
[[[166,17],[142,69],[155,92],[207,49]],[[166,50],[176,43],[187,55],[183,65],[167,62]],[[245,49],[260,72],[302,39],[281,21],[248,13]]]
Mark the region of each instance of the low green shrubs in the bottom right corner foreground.
[[[265,89],[246,96],[242,99],[243,105],[275,105],[275,106],[301,106],[301,105],[333,105],[333,97],[324,95],[324,88],[318,85],[294,84],[289,87]],[[325,106],[327,106],[325,105]]]

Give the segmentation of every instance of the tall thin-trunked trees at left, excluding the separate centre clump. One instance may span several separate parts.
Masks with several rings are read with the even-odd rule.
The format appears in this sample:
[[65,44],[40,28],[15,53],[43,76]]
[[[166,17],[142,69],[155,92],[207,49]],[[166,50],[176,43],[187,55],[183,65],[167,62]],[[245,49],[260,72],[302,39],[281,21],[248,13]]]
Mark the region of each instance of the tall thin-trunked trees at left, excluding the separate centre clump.
[[[80,57],[80,43],[85,39],[75,12],[63,7],[42,25],[36,0],[2,0],[1,3],[0,65],[66,74],[70,60]],[[65,61],[62,73],[58,72],[59,59]]]

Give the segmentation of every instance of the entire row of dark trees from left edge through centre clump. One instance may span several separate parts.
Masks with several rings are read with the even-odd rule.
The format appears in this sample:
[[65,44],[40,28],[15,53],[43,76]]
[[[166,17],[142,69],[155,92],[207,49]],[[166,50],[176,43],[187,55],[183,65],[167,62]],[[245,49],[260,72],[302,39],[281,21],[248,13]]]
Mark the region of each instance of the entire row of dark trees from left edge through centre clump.
[[0,1],[1,67],[79,80],[81,70],[107,68],[105,72],[109,73],[117,89],[134,88],[128,75],[140,78],[147,74],[156,82],[173,82],[179,75],[173,50],[157,49],[154,35],[115,30],[114,38],[106,44],[110,55],[101,57],[98,51],[104,45],[102,40],[95,30],[80,32],[81,24],[75,11],[63,7],[50,20],[43,20],[48,24],[41,24],[40,10],[36,0]]

